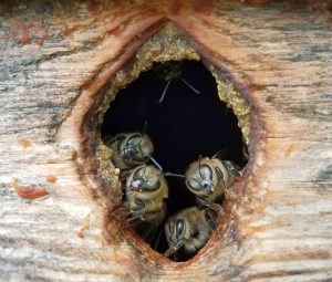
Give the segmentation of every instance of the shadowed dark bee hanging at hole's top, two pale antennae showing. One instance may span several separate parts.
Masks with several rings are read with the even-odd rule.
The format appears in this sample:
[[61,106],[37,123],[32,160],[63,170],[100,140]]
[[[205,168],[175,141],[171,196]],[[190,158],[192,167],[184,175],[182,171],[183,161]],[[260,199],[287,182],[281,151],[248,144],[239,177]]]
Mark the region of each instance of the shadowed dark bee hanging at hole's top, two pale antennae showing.
[[190,90],[193,90],[195,93],[200,94],[198,90],[196,90],[193,85],[190,85],[185,79],[181,77],[181,74],[184,72],[184,63],[179,61],[167,61],[164,63],[158,63],[154,71],[156,72],[157,76],[164,81],[167,82],[164,92],[162,94],[162,97],[159,98],[159,103],[163,102],[166,92],[169,87],[170,82],[174,80],[181,80]]

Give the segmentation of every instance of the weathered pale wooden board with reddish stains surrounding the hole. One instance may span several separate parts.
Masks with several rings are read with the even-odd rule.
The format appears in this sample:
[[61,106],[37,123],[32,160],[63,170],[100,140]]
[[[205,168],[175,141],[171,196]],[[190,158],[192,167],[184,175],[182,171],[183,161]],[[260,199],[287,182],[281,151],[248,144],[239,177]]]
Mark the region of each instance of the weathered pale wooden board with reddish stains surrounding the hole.
[[[199,2],[1,18],[0,281],[332,281],[331,18]],[[165,22],[256,113],[229,232],[179,264],[106,222],[97,184],[77,171],[89,105]]]

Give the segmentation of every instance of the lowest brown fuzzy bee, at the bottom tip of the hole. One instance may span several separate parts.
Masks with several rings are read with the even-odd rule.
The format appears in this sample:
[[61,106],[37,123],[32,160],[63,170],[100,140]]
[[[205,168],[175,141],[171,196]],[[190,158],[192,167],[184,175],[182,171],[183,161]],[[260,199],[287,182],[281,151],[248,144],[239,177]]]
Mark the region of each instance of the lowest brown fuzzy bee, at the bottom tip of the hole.
[[164,227],[169,248],[164,255],[168,258],[178,251],[185,255],[199,251],[217,229],[220,211],[219,205],[204,209],[195,206],[169,217]]

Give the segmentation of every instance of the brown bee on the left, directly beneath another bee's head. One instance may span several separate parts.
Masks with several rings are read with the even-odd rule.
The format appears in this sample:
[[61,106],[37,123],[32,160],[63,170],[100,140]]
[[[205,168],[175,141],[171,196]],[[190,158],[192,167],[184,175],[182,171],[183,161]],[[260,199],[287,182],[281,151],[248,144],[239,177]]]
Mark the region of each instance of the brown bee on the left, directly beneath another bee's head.
[[126,179],[125,194],[129,221],[147,223],[153,229],[164,220],[168,185],[159,169],[147,165],[135,167]]

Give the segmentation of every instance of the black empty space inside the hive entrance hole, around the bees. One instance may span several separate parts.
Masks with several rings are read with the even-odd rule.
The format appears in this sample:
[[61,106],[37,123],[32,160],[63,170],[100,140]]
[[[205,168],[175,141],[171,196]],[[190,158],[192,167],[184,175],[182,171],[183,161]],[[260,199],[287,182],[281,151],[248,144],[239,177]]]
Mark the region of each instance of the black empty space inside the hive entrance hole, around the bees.
[[[219,100],[214,76],[199,61],[181,62],[181,77],[200,94],[176,79],[170,82],[164,101],[158,103],[167,82],[154,69],[142,72],[112,102],[101,126],[102,139],[124,132],[142,132],[147,123],[146,134],[155,147],[153,156],[164,171],[185,174],[199,155],[211,157],[222,148],[227,159],[243,167],[241,130],[234,112]],[[196,205],[183,178],[167,177],[167,216]],[[163,253],[166,249],[167,241],[162,233],[156,250]]]

